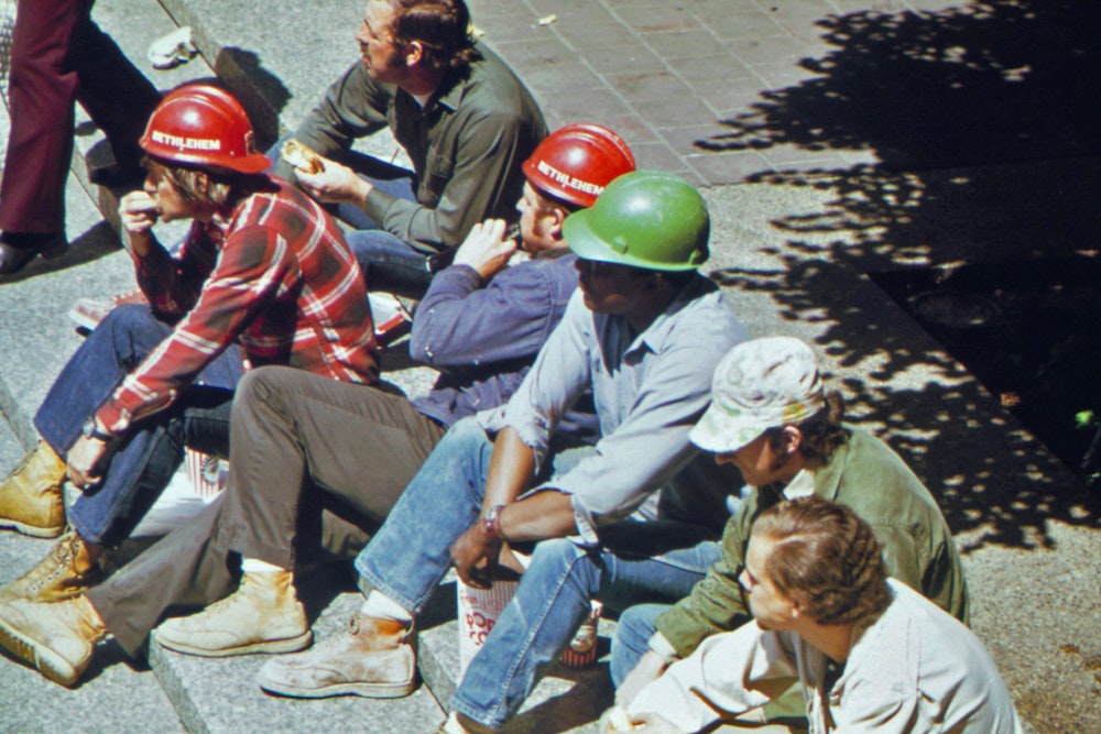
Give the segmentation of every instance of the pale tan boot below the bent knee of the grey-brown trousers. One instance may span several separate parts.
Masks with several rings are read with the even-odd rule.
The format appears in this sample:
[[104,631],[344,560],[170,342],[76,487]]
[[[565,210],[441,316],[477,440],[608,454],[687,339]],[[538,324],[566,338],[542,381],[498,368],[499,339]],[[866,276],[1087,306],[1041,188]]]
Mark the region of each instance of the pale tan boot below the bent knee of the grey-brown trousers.
[[198,614],[167,620],[153,639],[170,650],[229,657],[295,653],[313,639],[290,571],[246,573],[232,594]]

